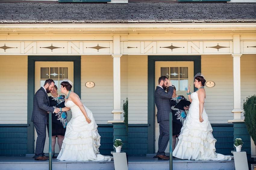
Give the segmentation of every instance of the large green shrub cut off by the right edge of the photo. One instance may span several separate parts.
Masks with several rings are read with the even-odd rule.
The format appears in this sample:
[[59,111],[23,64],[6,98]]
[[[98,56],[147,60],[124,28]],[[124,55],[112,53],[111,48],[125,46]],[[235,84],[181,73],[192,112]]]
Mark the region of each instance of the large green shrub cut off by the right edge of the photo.
[[243,107],[247,131],[256,145],[256,96],[247,97]]

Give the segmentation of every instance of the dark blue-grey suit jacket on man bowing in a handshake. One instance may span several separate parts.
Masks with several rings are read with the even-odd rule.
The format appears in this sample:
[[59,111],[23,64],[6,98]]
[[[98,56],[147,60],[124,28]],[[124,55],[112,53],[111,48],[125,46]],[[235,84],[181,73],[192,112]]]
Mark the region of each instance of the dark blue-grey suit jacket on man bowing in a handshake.
[[47,111],[54,112],[53,107],[49,107],[50,101],[44,88],[37,90],[33,100],[33,113],[31,122],[47,123]]

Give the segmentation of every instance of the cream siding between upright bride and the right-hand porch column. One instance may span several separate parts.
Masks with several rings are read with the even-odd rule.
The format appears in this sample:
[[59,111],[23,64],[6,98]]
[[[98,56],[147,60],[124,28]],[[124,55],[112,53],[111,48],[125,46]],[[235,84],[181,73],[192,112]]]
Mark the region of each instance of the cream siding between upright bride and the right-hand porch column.
[[233,120],[233,58],[231,55],[202,55],[201,72],[206,81],[215,86],[205,86],[204,107],[211,123],[227,123]]

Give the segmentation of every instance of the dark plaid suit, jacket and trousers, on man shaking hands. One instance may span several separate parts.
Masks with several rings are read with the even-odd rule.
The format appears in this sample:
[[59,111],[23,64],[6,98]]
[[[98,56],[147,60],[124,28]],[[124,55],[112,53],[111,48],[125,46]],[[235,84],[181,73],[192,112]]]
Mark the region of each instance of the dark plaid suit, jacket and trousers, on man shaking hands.
[[49,107],[49,98],[44,88],[37,90],[33,100],[33,113],[31,122],[34,123],[37,133],[35,158],[43,156],[45,138],[46,138],[46,123],[47,111],[54,112],[53,107]]

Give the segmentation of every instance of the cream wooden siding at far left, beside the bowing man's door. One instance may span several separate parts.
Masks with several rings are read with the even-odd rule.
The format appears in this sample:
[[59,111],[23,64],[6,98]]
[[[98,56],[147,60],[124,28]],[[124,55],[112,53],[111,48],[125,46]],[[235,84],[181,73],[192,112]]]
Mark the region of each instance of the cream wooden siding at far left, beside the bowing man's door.
[[0,124],[27,124],[27,56],[0,56]]

